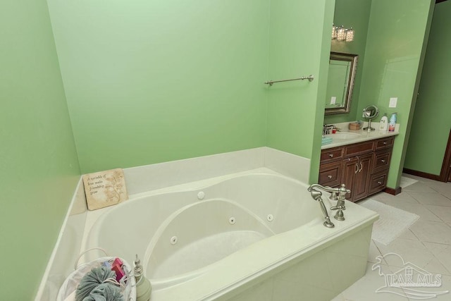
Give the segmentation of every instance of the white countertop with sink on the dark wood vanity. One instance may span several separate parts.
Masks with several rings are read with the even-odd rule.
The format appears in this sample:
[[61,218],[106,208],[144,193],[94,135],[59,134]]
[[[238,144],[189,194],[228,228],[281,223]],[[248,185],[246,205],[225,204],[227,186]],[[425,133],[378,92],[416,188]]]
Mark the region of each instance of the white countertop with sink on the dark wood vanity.
[[[347,123],[345,123],[346,126],[342,126],[340,128],[340,131],[336,134],[330,134],[330,135],[324,135],[324,137],[332,137],[332,143],[329,143],[328,145],[321,146],[321,149],[330,149],[332,147],[340,147],[342,145],[350,145],[353,143],[358,142],[364,142],[368,140],[375,140],[380,139],[383,137],[390,137],[395,136],[400,133],[400,127],[399,124],[396,125],[394,132],[389,132],[388,130],[380,131],[378,130],[379,124],[378,123],[371,123],[372,128],[376,128],[376,130],[373,130],[369,132],[368,130],[349,130],[347,128]],[[366,125],[362,128],[364,128]],[[345,139],[340,138],[340,135],[346,134],[346,133],[352,133],[352,137],[347,137]]]

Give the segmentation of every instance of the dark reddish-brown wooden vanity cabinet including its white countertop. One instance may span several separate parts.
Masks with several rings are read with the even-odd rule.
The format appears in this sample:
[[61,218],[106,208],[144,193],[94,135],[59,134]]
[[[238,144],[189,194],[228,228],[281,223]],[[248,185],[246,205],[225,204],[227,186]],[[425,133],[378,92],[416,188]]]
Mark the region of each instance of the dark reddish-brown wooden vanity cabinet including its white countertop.
[[321,147],[319,184],[338,187],[342,183],[352,202],[387,187],[395,132],[350,130],[326,135],[333,142]]

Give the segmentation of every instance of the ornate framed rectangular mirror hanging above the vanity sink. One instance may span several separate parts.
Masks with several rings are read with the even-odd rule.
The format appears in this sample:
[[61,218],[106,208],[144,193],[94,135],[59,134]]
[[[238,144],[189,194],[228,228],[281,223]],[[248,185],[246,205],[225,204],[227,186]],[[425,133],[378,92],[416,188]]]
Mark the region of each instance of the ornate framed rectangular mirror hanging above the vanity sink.
[[357,54],[330,52],[325,115],[350,112],[358,59]]

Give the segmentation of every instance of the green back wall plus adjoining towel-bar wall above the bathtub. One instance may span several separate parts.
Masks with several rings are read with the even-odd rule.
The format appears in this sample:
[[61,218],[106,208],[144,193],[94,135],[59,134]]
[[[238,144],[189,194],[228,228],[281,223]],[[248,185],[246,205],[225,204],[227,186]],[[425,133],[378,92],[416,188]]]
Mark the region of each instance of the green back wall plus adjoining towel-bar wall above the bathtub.
[[311,158],[333,4],[49,0],[82,173],[265,145]]

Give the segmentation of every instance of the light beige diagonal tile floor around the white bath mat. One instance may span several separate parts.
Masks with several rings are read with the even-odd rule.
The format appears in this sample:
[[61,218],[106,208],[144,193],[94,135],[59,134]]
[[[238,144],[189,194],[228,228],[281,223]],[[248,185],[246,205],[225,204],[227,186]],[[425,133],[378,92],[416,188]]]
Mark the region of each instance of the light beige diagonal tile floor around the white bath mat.
[[[397,293],[376,293],[385,286],[385,277],[371,267],[378,262],[376,257],[394,252],[404,262],[410,262],[433,276],[441,275],[442,285],[438,288],[418,288],[428,293],[448,291],[443,295],[426,295],[426,300],[451,300],[451,183],[403,174],[418,182],[402,188],[399,195],[380,192],[370,198],[393,207],[412,212],[420,218],[398,238],[383,245],[371,240],[366,274],[359,281],[336,296],[333,301],[397,301],[419,300],[417,295],[408,295],[407,290],[395,290]],[[390,261],[386,257],[381,262],[381,269],[395,273],[402,269],[398,261]],[[385,274],[391,274],[385,273]],[[409,297],[407,297],[409,296]]]

